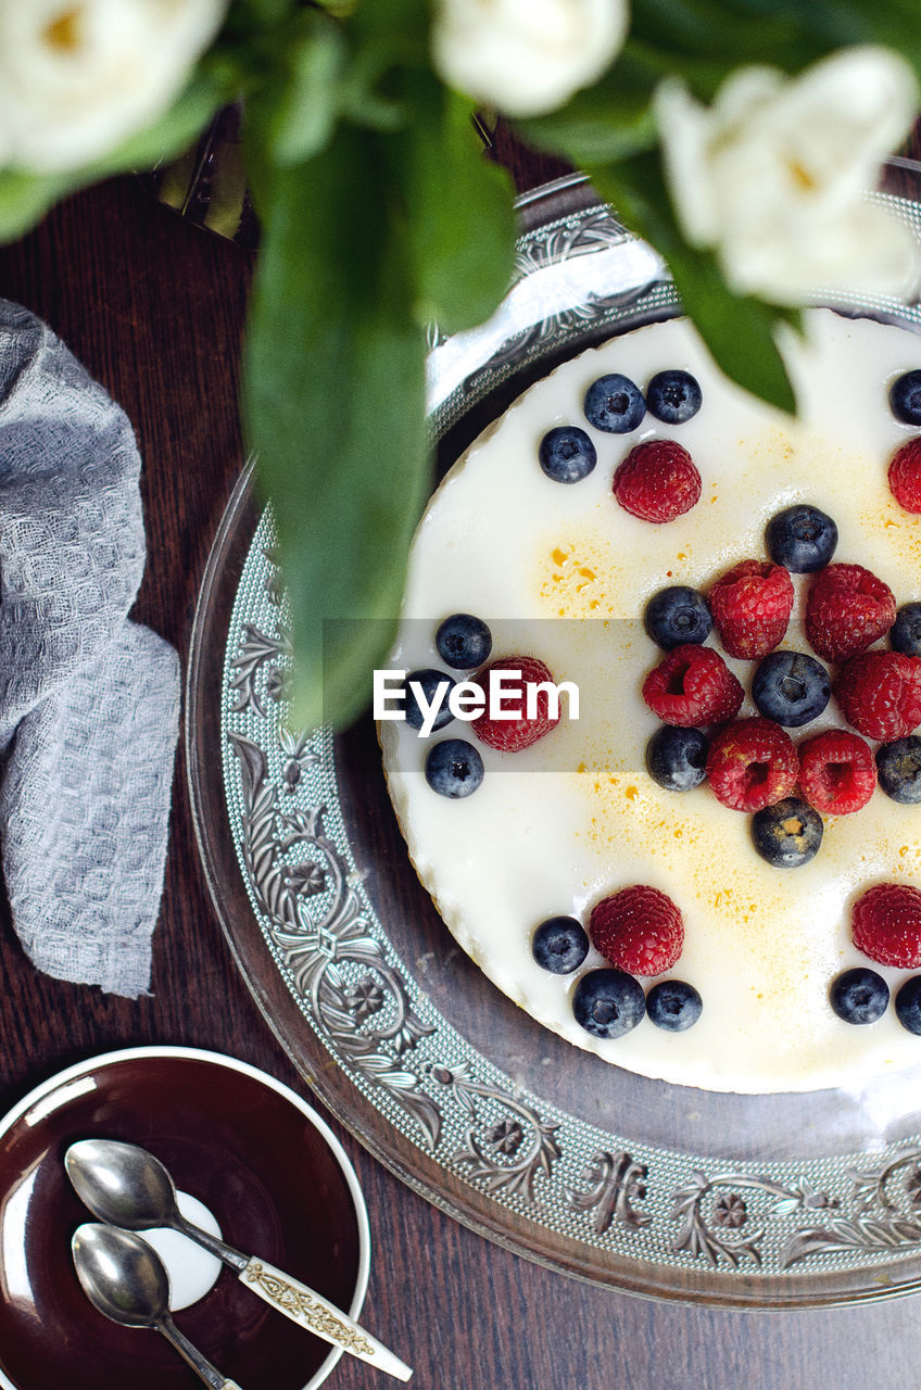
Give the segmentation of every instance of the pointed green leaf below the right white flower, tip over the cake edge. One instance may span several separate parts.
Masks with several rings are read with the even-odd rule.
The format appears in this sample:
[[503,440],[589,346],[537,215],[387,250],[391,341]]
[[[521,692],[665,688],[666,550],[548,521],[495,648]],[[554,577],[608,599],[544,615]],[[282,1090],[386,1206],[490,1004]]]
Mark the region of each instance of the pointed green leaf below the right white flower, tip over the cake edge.
[[675,221],[658,154],[637,156],[588,174],[627,225],[666,259],[684,310],[721,371],[768,404],[794,414],[796,396],[774,338],[779,322],[792,321],[790,311],[733,295],[714,254],[686,242]]

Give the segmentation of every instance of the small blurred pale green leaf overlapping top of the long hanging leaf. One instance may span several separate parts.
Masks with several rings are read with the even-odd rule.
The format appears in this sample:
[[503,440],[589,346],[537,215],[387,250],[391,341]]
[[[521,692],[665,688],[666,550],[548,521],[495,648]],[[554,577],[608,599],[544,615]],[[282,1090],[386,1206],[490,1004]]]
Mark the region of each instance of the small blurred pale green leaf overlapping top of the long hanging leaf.
[[341,26],[320,10],[299,15],[291,33],[266,138],[278,164],[298,164],[331,139],[342,104],[346,46]]

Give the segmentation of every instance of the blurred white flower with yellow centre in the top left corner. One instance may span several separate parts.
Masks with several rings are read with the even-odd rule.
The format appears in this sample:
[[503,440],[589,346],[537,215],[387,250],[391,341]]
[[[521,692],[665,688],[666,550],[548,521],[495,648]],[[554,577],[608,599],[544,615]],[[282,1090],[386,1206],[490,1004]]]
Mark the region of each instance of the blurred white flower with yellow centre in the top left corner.
[[0,164],[78,168],[150,125],[228,0],[0,0]]

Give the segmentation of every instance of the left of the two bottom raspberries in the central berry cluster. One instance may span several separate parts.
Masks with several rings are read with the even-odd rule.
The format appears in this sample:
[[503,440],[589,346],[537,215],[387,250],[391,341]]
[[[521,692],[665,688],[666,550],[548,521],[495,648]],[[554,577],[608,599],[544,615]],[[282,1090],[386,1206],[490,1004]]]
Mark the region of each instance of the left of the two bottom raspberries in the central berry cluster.
[[799,770],[793,739],[769,719],[736,720],[707,755],[714,795],[732,810],[764,810],[792,795]]

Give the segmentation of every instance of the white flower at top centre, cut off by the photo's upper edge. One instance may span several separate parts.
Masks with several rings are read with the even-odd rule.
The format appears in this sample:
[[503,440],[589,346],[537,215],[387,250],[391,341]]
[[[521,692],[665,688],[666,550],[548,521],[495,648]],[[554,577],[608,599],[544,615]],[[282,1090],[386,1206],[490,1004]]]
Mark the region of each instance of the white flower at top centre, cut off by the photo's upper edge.
[[438,0],[434,61],[477,101],[540,115],[600,78],[626,29],[626,0]]

